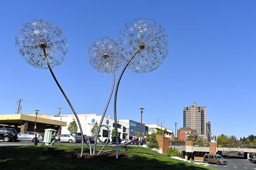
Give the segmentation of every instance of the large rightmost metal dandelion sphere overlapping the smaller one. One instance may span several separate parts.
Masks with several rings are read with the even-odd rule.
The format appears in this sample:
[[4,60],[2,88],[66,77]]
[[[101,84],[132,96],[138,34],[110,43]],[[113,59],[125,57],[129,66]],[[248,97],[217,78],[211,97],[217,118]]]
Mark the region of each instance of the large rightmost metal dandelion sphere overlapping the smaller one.
[[127,68],[134,73],[156,70],[169,51],[169,40],[164,28],[154,20],[136,18],[124,24],[117,33],[125,62],[139,49]]

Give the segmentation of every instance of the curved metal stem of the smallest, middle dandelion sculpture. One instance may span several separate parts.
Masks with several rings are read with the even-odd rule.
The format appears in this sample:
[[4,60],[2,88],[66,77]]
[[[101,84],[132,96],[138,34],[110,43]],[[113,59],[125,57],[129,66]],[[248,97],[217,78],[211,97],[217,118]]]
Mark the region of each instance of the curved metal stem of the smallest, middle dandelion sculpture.
[[[115,71],[114,71],[114,68],[113,68],[113,66],[112,66],[112,64],[111,64],[111,62],[110,62],[110,60],[109,60],[108,57],[107,57],[107,59],[108,59],[108,62],[109,62],[109,64],[110,64],[110,66],[111,66],[112,73],[113,73],[113,84],[112,84],[112,89],[111,89],[110,95],[109,95],[109,97],[108,97],[107,105],[106,105],[105,110],[104,110],[104,112],[103,112],[103,115],[102,115],[102,117],[101,117],[100,124],[99,124],[99,128],[98,128],[98,130],[97,130],[96,139],[95,139],[94,148],[93,148],[93,154],[95,154],[95,148],[96,148],[97,140],[98,140],[99,133],[100,133],[100,127],[101,127],[101,124],[102,124],[103,119],[104,119],[104,117],[105,117],[106,111],[107,111],[107,109],[108,109],[108,104],[109,104],[109,102],[110,102],[111,96],[112,96],[113,91],[114,91],[114,86],[115,86]],[[110,131],[109,131],[109,135],[110,135]],[[106,146],[106,145],[103,146],[102,150],[105,148],[105,146]],[[102,151],[102,150],[101,150],[101,151]],[[100,151],[100,152],[101,152],[101,151]],[[99,153],[98,153],[98,154],[99,154]]]

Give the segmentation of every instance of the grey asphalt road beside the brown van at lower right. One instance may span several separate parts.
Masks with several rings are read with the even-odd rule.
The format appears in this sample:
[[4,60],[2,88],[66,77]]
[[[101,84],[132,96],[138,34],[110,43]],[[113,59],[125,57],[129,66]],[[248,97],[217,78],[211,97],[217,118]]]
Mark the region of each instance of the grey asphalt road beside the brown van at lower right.
[[226,152],[224,159],[227,159],[228,165],[209,164],[207,167],[212,167],[220,170],[255,170],[256,164],[244,159],[243,156],[237,156],[236,152]]

